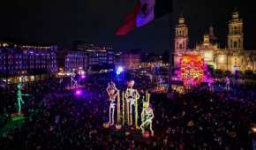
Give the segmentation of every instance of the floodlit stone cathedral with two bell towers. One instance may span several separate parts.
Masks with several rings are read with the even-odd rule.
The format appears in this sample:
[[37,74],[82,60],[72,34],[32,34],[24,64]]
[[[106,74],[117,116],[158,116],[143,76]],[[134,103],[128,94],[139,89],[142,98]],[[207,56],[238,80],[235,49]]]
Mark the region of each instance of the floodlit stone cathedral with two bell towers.
[[221,49],[216,42],[214,28],[204,34],[203,42],[195,48],[189,49],[188,26],[184,17],[178,19],[175,28],[174,65],[179,68],[183,56],[198,55],[214,69],[222,71],[256,71],[256,50],[244,49],[243,19],[240,19],[238,11],[234,11],[229,21],[229,34],[227,36],[227,48]]

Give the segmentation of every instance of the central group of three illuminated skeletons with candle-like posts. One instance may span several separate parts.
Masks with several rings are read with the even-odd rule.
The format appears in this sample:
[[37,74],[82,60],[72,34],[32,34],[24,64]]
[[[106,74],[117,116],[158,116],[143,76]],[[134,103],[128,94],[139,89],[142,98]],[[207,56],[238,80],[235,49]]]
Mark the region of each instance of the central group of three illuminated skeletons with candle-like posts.
[[[127,82],[127,89],[125,92],[123,91],[120,95],[119,90],[114,82],[109,83],[107,87],[107,92],[109,94],[109,122],[104,123],[104,128],[109,128],[110,126],[115,124],[115,109],[116,109],[116,99],[117,99],[117,123],[116,130],[120,130],[122,126],[126,125],[132,126],[132,129],[142,131],[142,136],[144,138],[149,138],[150,136],[154,136],[154,131],[152,129],[152,122],[154,118],[153,109],[149,106],[150,94],[146,93],[146,101],[144,101],[143,96],[143,109],[141,112],[141,124],[138,126],[138,100],[139,93],[136,89],[133,89],[135,82],[134,80],[130,80]],[[122,98],[122,101],[121,101]],[[134,108],[134,111],[132,109]],[[122,109],[122,110],[121,110]],[[135,119],[135,123],[133,124],[133,118]],[[133,128],[135,127],[135,128]],[[149,131],[147,131],[147,128]],[[125,131],[125,134],[130,134],[129,131]]]

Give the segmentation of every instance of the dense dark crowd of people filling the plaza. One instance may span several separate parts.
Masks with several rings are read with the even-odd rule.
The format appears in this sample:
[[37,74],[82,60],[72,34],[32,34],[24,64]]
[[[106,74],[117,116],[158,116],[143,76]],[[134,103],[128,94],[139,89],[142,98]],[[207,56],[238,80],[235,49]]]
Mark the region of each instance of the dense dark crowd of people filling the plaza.
[[[139,94],[145,94],[147,80],[135,79]],[[152,94],[154,137],[141,140],[117,136],[104,129],[108,121],[109,79],[82,82],[84,92],[74,95],[64,87],[69,79],[47,79],[26,83],[22,126],[0,135],[0,149],[251,149],[251,124],[255,119],[255,85],[230,85],[230,91],[196,88],[184,94]],[[117,82],[124,90],[125,84]],[[16,112],[16,85],[1,89],[1,122]],[[141,103],[139,102],[139,107]],[[140,112],[140,111],[139,111]],[[1,128],[4,124],[0,124]],[[140,135],[140,131],[137,131]],[[136,133],[137,134],[137,133]],[[147,142],[149,141],[149,142]]]

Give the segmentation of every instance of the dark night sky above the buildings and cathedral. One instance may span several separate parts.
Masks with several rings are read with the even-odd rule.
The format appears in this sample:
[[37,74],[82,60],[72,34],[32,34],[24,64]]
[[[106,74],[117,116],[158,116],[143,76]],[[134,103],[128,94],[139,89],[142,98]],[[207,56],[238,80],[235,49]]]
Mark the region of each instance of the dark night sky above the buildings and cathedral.
[[245,20],[246,49],[256,49],[256,15],[252,1],[245,0],[175,0],[169,15],[152,24],[119,37],[114,34],[123,16],[136,0],[5,0],[0,4],[0,39],[70,44],[84,40],[110,44],[114,49],[147,49],[162,52],[170,48],[170,26],[184,14],[190,27],[190,45],[202,40],[208,26],[224,45],[230,13],[237,7]]

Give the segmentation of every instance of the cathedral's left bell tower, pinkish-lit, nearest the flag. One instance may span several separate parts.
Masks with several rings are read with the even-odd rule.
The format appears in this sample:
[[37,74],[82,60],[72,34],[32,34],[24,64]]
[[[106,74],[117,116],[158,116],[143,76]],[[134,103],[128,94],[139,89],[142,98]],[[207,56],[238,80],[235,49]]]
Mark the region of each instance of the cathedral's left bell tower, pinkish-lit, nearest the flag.
[[188,50],[188,27],[184,22],[183,15],[178,19],[177,26],[175,28],[175,57],[174,64],[178,67],[181,56]]

